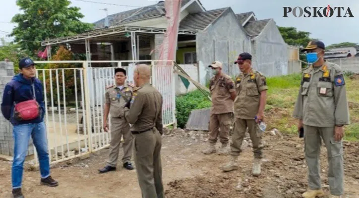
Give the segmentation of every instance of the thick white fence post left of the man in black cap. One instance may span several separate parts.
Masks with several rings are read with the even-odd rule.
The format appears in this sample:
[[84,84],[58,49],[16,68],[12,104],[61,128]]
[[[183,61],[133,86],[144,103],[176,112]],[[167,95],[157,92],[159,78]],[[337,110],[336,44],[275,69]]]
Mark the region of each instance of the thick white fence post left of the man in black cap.
[[[88,61],[84,61],[82,63],[83,68],[83,83],[85,87],[85,111],[86,111],[86,127],[87,127],[87,135],[89,139],[89,152],[92,152],[92,124],[91,124],[91,105],[90,105],[90,88],[88,87]],[[85,127],[85,126],[84,126]]]

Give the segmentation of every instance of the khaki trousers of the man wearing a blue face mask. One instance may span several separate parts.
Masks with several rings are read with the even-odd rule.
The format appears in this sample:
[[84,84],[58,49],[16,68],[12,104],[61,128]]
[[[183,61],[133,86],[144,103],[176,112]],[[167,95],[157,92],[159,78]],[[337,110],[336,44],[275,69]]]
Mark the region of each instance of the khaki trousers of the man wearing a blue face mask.
[[[308,184],[311,190],[321,188],[320,146],[321,139],[328,152],[328,183],[332,195],[344,194],[344,164],[342,141],[334,140],[334,127],[312,127],[304,125],[305,159],[308,166]],[[321,138],[321,139],[320,139]]]

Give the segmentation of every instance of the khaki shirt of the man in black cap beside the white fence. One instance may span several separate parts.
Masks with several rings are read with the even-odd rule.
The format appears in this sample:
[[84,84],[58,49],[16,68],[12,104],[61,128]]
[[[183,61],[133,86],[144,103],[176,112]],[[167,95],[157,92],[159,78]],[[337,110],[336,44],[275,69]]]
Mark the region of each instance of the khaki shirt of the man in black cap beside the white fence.
[[124,84],[122,90],[114,85],[106,90],[105,103],[110,104],[110,116],[115,118],[123,117],[123,108],[126,101],[123,99],[123,92],[132,91],[132,87]]

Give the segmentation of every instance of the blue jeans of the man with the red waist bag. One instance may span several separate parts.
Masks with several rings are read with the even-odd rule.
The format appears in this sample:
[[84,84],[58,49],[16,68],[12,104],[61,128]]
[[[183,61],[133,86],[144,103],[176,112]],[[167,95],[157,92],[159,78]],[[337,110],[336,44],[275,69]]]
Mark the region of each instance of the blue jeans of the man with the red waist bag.
[[40,163],[41,178],[50,176],[50,161],[45,123],[21,124],[13,126],[14,160],[12,163],[12,188],[21,188],[23,165],[29,145],[30,136],[34,142]]

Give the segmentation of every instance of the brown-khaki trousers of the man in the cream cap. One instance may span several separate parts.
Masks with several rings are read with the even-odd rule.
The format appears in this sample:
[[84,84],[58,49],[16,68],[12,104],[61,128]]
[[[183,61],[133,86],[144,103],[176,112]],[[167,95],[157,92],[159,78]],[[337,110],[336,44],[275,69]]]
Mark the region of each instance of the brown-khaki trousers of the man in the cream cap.
[[[219,135],[220,142],[222,144],[228,144],[232,124],[231,116],[232,113],[211,114],[209,120],[209,143],[216,144]],[[219,131],[219,128],[221,128],[221,131]]]

